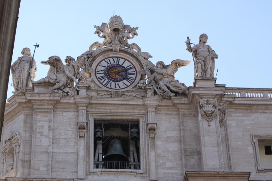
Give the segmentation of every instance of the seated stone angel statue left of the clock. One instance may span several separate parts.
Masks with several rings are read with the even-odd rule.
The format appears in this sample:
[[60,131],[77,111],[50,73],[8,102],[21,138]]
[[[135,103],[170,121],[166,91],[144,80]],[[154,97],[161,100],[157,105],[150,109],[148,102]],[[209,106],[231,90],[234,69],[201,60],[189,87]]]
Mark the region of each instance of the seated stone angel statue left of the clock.
[[42,78],[35,83],[50,82],[55,84],[49,90],[56,93],[61,93],[64,96],[77,95],[74,82],[80,77],[79,66],[74,63],[75,59],[71,56],[66,56],[66,65],[63,65],[60,57],[50,56],[47,61],[42,61],[44,65],[50,65],[47,77]]

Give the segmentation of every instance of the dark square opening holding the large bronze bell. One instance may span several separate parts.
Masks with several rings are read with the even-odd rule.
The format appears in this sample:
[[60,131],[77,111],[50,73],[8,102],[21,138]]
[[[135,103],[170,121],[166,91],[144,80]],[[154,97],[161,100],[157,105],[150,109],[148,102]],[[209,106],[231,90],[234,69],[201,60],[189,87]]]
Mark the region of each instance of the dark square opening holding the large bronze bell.
[[140,169],[138,121],[94,122],[94,168]]

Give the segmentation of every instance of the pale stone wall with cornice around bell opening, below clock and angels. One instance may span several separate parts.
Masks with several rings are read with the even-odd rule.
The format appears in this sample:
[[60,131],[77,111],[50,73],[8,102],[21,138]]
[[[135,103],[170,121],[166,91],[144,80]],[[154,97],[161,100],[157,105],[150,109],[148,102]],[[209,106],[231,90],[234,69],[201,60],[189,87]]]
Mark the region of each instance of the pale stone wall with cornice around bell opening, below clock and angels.
[[[210,126],[199,107],[207,97],[217,101],[218,114]],[[187,180],[204,175],[232,180],[246,179],[251,172],[252,180],[269,180],[272,172],[256,169],[251,135],[272,135],[272,101],[252,99],[224,95],[222,86],[193,87],[188,98],[171,99],[18,94],[9,99],[3,138],[10,132],[21,136],[17,177],[179,181],[187,174]],[[228,110],[227,122],[220,126],[221,103]],[[93,168],[94,120],[139,121],[140,170]],[[220,149],[221,160],[214,154]],[[212,172],[205,172],[207,165]],[[0,174],[5,176],[3,170]]]

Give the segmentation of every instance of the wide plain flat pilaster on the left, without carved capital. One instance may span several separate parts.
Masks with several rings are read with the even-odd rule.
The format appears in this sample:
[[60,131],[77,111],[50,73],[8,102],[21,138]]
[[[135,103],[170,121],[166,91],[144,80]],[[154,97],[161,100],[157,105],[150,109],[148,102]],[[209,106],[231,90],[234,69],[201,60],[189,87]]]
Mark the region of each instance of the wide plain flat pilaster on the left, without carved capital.
[[[39,100],[38,100],[39,101]],[[33,102],[31,177],[51,177],[53,107],[56,101]]]

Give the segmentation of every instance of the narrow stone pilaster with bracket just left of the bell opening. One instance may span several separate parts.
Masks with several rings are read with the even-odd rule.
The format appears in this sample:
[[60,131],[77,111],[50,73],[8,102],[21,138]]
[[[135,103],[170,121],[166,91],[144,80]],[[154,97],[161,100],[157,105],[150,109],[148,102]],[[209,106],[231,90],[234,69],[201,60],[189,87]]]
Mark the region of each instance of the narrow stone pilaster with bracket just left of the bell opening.
[[77,147],[77,178],[86,178],[86,110],[90,96],[74,96],[78,106],[78,147]]

